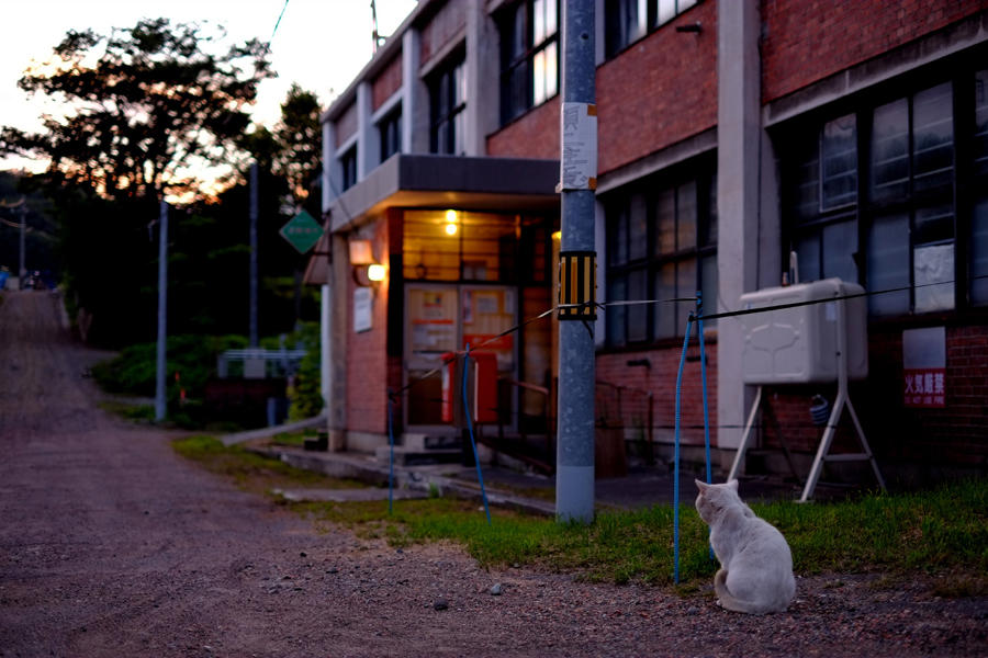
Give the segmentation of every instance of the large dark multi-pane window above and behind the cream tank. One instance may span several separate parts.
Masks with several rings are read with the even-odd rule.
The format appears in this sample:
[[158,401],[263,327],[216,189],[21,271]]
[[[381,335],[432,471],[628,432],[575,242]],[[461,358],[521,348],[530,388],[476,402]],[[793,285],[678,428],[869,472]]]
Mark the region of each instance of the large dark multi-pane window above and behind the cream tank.
[[868,297],[876,317],[988,304],[986,84],[988,71],[961,71],[785,136],[784,245],[799,281],[906,288]]

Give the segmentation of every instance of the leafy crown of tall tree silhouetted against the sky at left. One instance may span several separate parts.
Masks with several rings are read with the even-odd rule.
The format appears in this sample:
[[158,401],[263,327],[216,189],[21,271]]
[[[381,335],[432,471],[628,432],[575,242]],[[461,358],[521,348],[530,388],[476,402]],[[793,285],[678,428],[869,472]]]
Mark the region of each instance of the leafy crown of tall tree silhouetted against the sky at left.
[[110,36],[69,31],[19,86],[72,110],[64,120],[45,116],[38,134],[3,128],[0,152],[49,158],[56,179],[110,197],[195,193],[198,171],[228,161],[258,84],[274,75],[257,39],[215,53],[224,35],[167,19]]

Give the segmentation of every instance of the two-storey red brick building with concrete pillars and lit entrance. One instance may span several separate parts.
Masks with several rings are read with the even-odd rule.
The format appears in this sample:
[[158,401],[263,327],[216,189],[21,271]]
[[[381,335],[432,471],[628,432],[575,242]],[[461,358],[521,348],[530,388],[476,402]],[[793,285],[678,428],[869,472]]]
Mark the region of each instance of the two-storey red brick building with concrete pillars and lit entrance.
[[[799,281],[902,288],[868,298],[869,374],[851,385],[872,447],[891,476],[984,474],[988,1],[596,3],[598,299],[701,290],[708,314],[715,300],[736,309],[779,285],[794,252]],[[307,277],[324,284],[336,445],[386,444],[386,389],[554,303],[560,11],[422,0],[324,113],[329,232]],[[370,245],[383,281],[368,285],[351,264],[353,242]],[[597,321],[597,412],[629,449],[671,445],[691,309],[614,307]],[[933,393],[903,361],[917,329],[945,344],[932,402],[907,397]],[[711,439],[729,465],[753,398],[744,338],[734,318],[705,330]],[[509,432],[544,432],[553,334],[539,320],[491,345]],[[687,458],[703,445],[697,355],[694,340]],[[834,390],[766,392],[797,469],[820,436],[810,399]],[[408,389],[396,434],[446,429],[440,397],[438,375]],[[839,432],[837,449],[851,438]],[[770,449],[777,439],[759,435]]]

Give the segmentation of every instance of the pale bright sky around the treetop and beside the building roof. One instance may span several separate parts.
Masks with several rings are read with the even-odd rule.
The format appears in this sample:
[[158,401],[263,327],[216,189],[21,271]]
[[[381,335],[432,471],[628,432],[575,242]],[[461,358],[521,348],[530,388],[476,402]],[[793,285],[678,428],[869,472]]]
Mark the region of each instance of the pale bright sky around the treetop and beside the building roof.
[[[391,34],[415,8],[415,0],[377,0],[378,25]],[[59,105],[41,95],[29,99],[18,80],[31,61],[44,61],[69,30],[110,34],[141,19],[164,16],[172,23],[209,21],[223,24],[226,47],[249,38],[267,41],[285,7],[284,0],[21,0],[4,2],[0,38],[0,126],[42,128],[40,116],[58,115]],[[271,41],[271,60],[279,77],[261,83],[256,121],[273,126],[292,82],[318,94],[323,105],[330,89],[339,94],[372,55],[370,0],[289,0]],[[226,49],[226,48],[224,48]],[[0,159],[0,170],[44,169],[24,158]]]

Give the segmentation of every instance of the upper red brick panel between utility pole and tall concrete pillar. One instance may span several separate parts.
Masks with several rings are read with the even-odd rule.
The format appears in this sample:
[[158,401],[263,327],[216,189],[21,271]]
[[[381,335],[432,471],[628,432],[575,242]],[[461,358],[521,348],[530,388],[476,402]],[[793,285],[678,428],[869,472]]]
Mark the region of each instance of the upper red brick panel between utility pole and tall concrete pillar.
[[[699,34],[676,32],[697,21]],[[684,12],[597,69],[599,173],[715,125],[717,2]]]

